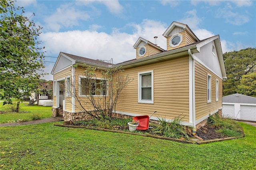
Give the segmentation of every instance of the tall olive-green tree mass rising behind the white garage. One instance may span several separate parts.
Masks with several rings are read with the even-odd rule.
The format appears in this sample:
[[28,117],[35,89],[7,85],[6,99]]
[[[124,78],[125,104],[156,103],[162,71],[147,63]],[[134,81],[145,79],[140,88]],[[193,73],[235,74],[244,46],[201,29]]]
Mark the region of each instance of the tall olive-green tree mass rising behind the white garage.
[[227,80],[223,82],[223,95],[243,94],[238,86],[241,83],[242,76],[256,71],[256,48],[224,53],[223,58],[227,74]]

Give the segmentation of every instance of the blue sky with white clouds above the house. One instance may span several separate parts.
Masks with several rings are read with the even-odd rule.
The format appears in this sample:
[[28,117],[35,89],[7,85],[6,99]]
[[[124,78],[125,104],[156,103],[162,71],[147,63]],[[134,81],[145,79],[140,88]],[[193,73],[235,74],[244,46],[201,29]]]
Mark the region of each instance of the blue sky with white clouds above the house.
[[172,21],[187,24],[199,39],[220,35],[223,53],[256,47],[256,1],[18,0],[16,6],[25,16],[35,13],[30,19],[43,27],[47,73],[60,52],[120,63],[136,57],[139,37],[154,43],[155,36],[166,49],[162,34]]

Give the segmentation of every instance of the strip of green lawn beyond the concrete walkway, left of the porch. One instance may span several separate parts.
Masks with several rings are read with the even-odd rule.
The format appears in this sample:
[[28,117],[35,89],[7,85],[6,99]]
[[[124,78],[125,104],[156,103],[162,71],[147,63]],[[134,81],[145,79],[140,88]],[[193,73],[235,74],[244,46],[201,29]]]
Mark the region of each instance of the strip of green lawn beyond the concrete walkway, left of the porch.
[[[2,105],[0,102],[0,110],[7,111],[8,105]],[[29,111],[29,112],[22,112]],[[12,123],[16,121],[29,121],[32,120],[33,114],[42,115],[42,118],[52,117],[52,107],[51,106],[37,106],[28,105],[28,102],[20,103],[20,113],[0,113],[0,123]]]

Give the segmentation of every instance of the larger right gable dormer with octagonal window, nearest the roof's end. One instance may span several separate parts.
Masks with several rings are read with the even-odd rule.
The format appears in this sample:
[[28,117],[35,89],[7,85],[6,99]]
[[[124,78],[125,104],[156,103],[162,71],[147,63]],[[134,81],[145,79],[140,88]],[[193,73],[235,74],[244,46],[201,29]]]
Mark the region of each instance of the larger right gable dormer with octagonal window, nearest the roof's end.
[[175,21],[172,22],[163,35],[167,40],[167,51],[199,41],[188,25]]

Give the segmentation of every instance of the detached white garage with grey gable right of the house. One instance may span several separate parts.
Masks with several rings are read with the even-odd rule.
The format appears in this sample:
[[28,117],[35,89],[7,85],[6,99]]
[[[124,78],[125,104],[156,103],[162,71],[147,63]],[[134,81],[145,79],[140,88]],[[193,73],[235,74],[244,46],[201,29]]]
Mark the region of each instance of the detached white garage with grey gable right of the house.
[[222,98],[222,115],[232,119],[256,121],[256,98],[232,94]]

